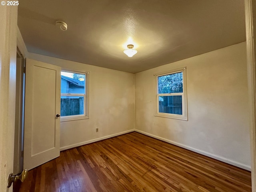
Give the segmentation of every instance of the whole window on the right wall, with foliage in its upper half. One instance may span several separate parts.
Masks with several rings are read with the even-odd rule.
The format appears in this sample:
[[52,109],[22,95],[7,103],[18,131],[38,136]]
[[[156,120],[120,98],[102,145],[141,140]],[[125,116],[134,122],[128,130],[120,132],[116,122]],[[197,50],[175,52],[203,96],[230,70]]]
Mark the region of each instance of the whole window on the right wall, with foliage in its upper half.
[[156,115],[188,120],[186,68],[155,75]]

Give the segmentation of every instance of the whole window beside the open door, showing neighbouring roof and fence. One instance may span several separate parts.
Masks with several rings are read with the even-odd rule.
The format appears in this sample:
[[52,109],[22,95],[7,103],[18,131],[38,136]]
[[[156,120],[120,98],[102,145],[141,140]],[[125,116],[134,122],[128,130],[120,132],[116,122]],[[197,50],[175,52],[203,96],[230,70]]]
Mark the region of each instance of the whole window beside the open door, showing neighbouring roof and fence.
[[60,120],[88,118],[88,72],[61,72]]

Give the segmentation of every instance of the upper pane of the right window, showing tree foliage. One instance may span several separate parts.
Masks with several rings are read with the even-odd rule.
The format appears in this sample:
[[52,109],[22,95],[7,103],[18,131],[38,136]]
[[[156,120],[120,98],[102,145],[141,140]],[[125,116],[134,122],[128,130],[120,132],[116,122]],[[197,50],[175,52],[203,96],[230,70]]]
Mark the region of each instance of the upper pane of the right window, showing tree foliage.
[[158,94],[161,93],[182,93],[183,72],[163,75],[158,77]]

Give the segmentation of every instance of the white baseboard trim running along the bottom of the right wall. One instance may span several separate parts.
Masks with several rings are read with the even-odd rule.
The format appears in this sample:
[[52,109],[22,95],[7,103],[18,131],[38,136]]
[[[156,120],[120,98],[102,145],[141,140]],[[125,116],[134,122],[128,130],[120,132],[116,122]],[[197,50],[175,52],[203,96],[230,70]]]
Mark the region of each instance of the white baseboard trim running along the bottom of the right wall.
[[161,141],[165,141],[165,142],[170,143],[170,144],[174,144],[174,145],[176,145],[176,146],[179,146],[179,147],[188,149],[188,150],[190,150],[190,151],[193,151],[193,152],[196,152],[196,153],[199,153],[199,154],[202,154],[202,155],[205,155],[205,156],[214,158],[214,159],[216,159],[216,160],[220,160],[220,161],[222,161],[222,162],[225,162],[225,163],[228,163],[228,164],[231,164],[231,165],[240,167],[240,168],[242,168],[242,169],[251,171],[251,167],[248,166],[248,165],[246,165],[246,164],[242,164],[242,163],[239,163],[239,162],[236,162],[236,161],[233,161],[233,160],[230,160],[230,159],[221,157],[221,156],[217,156],[217,155],[214,155],[214,154],[211,154],[211,153],[202,151],[202,150],[198,150],[198,149],[196,149],[196,148],[192,148],[192,147],[190,147],[190,146],[186,146],[186,145],[184,145],[184,144],[180,144],[180,143],[178,143],[178,142],[174,142],[174,141],[171,141],[171,140],[168,140],[168,139],[165,139],[165,138],[162,138],[162,137],[153,135],[153,134],[149,134],[149,133],[146,133],[146,132],[137,130],[137,129],[135,129],[134,131],[136,131],[136,132],[138,132],[138,133],[141,133],[141,134],[144,134],[144,135],[147,135],[147,136],[150,136],[150,137],[153,137],[153,138],[156,138],[156,139],[159,139],[159,140],[161,140]]

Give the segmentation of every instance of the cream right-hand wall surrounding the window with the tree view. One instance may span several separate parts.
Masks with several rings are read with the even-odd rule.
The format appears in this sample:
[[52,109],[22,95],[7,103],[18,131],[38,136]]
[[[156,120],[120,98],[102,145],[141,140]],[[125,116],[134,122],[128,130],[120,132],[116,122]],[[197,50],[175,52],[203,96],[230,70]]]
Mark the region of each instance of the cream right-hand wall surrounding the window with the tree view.
[[[187,66],[188,121],[154,116],[154,74]],[[250,170],[246,43],[135,74],[135,129]]]

